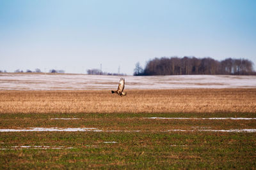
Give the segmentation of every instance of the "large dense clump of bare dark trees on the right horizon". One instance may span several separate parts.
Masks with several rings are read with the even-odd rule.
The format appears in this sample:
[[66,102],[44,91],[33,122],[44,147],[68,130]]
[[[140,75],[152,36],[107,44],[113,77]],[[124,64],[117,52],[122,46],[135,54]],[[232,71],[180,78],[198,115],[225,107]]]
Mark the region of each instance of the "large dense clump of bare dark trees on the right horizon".
[[181,75],[181,74],[256,74],[253,62],[248,59],[214,60],[210,57],[162,57],[149,60],[143,69],[137,63],[134,76]]

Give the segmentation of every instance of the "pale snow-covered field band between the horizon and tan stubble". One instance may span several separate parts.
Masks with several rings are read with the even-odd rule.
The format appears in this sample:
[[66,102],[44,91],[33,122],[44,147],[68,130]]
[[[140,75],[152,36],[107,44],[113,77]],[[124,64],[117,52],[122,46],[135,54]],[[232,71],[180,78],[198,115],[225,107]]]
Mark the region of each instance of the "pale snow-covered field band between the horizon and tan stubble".
[[[124,76],[125,89],[256,88],[256,76]],[[120,76],[0,73],[0,90],[117,89]]]

